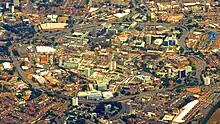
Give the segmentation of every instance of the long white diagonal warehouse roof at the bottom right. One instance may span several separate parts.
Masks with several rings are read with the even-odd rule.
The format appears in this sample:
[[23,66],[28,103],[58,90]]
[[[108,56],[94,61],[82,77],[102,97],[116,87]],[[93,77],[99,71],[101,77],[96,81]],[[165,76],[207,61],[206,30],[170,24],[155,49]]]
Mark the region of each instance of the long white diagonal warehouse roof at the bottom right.
[[194,108],[194,106],[195,106],[196,104],[198,104],[198,103],[199,103],[199,100],[194,100],[194,101],[188,103],[187,105],[185,105],[185,106],[183,107],[183,111],[182,111],[178,116],[176,116],[173,121],[176,122],[176,123],[182,123],[182,122],[184,122],[185,120],[183,120],[183,118],[184,118],[184,117],[190,112],[190,110],[192,110],[192,109]]

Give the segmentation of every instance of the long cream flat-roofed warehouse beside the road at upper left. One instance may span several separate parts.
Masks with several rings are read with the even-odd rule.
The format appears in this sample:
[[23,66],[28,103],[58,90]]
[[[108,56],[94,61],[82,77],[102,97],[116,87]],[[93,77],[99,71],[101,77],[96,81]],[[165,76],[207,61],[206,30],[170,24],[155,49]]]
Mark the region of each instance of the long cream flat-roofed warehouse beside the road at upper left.
[[44,23],[40,25],[43,30],[64,29],[67,23]]

